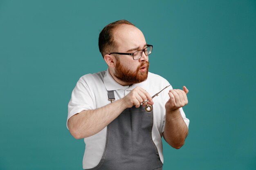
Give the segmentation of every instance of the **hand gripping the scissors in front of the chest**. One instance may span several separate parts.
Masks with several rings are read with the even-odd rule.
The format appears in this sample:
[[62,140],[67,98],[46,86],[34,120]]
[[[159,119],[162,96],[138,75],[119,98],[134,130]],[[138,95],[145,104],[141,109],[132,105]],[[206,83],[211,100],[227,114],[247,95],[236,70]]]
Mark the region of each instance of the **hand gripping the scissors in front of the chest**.
[[146,106],[146,104],[154,104],[152,97],[146,90],[141,87],[135,87],[128,95],[126,95],[121,100],[126,108],[131,108],[132,106],[139,108],[140,104],[146,99],[148,99],[148,102],[145,102],[142,106]]

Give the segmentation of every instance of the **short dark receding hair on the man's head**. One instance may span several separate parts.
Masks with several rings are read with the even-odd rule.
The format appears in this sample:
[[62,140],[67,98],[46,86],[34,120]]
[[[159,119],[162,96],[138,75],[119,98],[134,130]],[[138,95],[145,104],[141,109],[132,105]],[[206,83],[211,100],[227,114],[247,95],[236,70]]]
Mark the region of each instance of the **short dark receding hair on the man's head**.
[[117,48],[117,43],[113,38],[113,30],[121,24],[129,24],[135,26],[127,20],[118,20],[106,25],[101,33],[99,33],[99,51],[101,52],[103,58],[104,55],[113,52],[112,50]]

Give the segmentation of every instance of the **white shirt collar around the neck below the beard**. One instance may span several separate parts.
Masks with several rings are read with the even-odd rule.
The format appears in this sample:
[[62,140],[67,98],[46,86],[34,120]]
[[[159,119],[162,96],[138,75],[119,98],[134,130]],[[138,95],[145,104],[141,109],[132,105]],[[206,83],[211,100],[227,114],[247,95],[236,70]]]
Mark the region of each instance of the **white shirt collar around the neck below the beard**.
[[139,86],[141,88],[145,88],[145,85],[147,84],[147,80],[141,83],[132,84],[132,86],[122,86],[121,84],[117,83],[115,79],[112,77],[112,75],[109,72],[109,69],[106,70],[106,73],[103,77],[103,82],[105,84],[105,87],[107,91],[115,91],[119,89],[127,89],[132,90],[133,88]]

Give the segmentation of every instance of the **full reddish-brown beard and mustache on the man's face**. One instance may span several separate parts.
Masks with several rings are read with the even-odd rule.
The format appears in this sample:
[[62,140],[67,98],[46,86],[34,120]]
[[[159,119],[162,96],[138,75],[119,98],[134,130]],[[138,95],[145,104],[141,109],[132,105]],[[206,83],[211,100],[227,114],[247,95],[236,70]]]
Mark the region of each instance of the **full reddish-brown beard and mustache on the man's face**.
[[[146,71],[141,72],[139,69],[147,65]],[[145,81],[148,78],[148,67],[149,67],[149,62],[142,62],[140,66],[136,69],[136,71],[131,71],[129,68],[126,68],[124,65],[122,65],[117,59],[117,64],[115,67],[115,77],[117,77],[119,80],[122,82],[126,82],[128,84],[136,84]]]

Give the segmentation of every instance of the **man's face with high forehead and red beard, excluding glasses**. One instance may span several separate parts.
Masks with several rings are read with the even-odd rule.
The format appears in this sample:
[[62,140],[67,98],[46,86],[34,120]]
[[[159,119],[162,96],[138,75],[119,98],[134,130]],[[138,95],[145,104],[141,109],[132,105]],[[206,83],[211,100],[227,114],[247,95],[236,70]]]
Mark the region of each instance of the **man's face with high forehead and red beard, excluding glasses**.
[[[121,25],[115,30],[117,52],[134,53],[146,45],[143,33],[132,25]],[[148,56],[142,54],[139,60],[133,60],[132,55],[116,55],[115,71],[113,75],[126,84],[143,82],[148,77]]]

